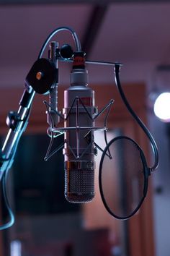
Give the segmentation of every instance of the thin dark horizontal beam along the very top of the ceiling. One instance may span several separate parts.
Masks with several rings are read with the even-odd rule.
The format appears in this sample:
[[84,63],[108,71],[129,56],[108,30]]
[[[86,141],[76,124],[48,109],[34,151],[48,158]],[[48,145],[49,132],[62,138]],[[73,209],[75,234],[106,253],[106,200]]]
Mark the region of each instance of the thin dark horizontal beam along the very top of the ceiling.
[[0,0],[0,5],[14,5],[14,4],[128,4],[128,3],[164,3],[170,0]]

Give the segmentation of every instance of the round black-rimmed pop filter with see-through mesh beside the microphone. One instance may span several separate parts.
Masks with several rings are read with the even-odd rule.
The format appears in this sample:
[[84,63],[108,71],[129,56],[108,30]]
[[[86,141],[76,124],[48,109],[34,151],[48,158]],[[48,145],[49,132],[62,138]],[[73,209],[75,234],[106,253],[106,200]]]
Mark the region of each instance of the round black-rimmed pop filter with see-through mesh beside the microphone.
[[129,137],[112,139],[99,165],[99,189],[104,207],[115,218],[133,216],[148,189],[149,169],[139,145]]

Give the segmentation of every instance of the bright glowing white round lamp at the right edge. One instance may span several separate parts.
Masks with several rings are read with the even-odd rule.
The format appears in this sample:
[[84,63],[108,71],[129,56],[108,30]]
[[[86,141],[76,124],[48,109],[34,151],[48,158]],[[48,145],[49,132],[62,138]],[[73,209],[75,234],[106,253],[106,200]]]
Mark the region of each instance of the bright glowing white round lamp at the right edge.
[[161,93],[156,98],[154,113],[161,121],[170,122],[170,93]]

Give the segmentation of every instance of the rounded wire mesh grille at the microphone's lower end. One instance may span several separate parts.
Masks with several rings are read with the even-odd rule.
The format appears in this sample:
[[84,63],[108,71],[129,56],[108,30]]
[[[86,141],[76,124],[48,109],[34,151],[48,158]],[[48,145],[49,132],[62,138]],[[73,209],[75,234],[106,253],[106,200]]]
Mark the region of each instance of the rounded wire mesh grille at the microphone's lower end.
[[[70,161],[66,163],[66,200],[73,203],[90,202],[94,198],[94,162]],[[83,168],[84,166],[86,168]]]

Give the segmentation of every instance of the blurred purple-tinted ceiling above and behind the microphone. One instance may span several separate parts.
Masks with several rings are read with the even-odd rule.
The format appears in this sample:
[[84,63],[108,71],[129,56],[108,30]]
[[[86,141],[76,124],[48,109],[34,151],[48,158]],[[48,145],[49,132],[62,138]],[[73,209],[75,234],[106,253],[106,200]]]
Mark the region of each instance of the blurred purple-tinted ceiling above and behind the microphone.
[[[56,27],[73,27],[86,44],[86,29],[95,6],[1,5],[0,88],[23,85],[42,43]],[[88,59],[122,62],[122,81],[149,83],[157,64],[170,63],[170,3],[109,3],[98,23]],[[63,32],[55,40],[60,45],[72,42],[71,36]],[[69,81],[69,69],[70,65],[61,64],[61,83]],[[91,82],[110,83],[112,69],[90,65],[89,76]]]

